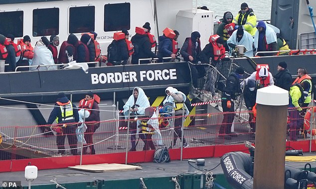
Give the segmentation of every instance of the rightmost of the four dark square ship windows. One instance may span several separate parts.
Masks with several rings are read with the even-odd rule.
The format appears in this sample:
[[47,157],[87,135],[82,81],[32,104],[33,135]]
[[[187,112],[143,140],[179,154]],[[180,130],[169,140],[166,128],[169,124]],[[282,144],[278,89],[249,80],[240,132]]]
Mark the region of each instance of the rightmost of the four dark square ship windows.
[[122,29],[131,29],[131,4],[105,4],[104,31],[118,31]]

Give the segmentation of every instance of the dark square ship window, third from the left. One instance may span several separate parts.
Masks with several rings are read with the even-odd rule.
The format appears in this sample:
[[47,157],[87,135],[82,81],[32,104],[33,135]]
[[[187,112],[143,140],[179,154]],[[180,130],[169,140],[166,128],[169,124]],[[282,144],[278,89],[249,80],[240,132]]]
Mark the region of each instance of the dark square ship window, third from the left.
[[94,31],[95,6],[69,8],[69,33]]

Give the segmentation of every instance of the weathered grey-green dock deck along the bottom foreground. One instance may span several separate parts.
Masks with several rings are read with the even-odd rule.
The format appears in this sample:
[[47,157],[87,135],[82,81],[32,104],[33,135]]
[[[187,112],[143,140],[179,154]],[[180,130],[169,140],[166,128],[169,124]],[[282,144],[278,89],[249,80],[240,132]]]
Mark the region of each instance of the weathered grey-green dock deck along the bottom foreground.
[[[304,153],[304,156],[315,156],[316,153]],[[220,158],[206,158],[205,169],[210,170],[218,166]],[[316,167],[315,162],[307,162]],[[286,165],[302,169],[306,162],[286,162]],[[52,169],[52,170],[39,170],[38,177],[32,182],[35,185],[49,185],[52,184],[50,180],[56,178],[57,183],[81,183],[92,182],[95,180],[115,181],[115,180],[130,180],[139,178],[160,178],[160,177],[175,177],[184,174],[188,170],[187,160],[171,161],[169,163],[140,163],[134,164],[142,166],[143,169],[135,171],[120,171],[120,172],[102,172],[91,173],[84,171],[77,171],[71,169]],[[222,168],[219,165],[211,171],[213,175],[223,174]],[[6,172],[0,173],[2,181],[21,181],[22,186],[28,186],[28,182],[24,179],[24,172]]]

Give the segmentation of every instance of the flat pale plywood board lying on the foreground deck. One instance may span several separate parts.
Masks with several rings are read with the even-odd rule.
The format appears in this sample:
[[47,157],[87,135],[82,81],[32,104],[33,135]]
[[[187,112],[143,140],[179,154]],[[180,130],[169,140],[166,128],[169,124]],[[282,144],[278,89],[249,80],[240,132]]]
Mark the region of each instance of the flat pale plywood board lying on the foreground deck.
[[95,164],[95,165],[81,165],[81,166],[71,166],[70,169],[87,171],[87,172],[116,172],[116,171],[133,171],[142,169],[141,166],[132,166],[125,164]]

